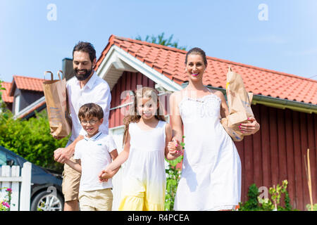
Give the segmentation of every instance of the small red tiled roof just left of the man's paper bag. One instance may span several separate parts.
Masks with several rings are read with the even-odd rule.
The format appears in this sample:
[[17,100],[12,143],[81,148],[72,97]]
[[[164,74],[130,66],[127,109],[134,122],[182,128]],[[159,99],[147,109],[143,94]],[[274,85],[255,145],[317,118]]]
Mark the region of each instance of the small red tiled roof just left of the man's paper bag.
[[14,75],[10,95],[13,96],[15,87],[22,90],[43,91],[43,82],[44,79]]

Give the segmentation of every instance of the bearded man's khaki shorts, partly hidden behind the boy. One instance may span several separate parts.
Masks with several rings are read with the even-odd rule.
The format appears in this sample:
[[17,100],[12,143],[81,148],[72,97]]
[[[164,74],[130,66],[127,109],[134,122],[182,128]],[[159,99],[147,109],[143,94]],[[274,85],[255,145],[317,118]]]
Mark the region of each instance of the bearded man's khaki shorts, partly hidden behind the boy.
[[[75,162],[73,157],[70,160]],[[80,176],[80,172],[77,172],[67,164],[64,165],[62,191],[65,202],[78,200]]]

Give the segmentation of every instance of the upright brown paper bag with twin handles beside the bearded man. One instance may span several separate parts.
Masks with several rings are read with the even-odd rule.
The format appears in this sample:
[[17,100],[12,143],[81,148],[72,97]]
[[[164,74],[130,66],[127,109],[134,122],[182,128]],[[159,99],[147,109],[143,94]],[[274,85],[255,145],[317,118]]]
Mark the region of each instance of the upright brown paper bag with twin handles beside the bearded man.
[[[45,80],[45,75],[48,72],[51,73],[51,80]],[[53,79],[53,73],[45,71],[43,82],[49,127],[51,128],[51,135],[56,138],[68,136],[72,129],[68,117],[66,79],[61,79],[60,72],[62,71],[58,70],[57,72],[59,79]]]

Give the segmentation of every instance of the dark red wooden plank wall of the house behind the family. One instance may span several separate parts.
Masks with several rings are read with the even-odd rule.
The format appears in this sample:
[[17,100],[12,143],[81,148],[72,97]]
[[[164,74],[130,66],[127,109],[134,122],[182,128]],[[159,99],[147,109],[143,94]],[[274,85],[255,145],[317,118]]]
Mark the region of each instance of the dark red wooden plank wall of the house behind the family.
[[[139,72],[123,72],[111,91],[111,108],[127,103],[120,99],[125,90],[137,89],[137,85],[154,87],[155,83]],[[128,108],[128,107],[125,107]],[[287,179],[291,204],[298,210],[306,210],[309,191],[306,179],[304,155],[310,148],[313,200],[317,201],[317,116],[292,110],[252,105],[256,120],[261,124],[259,132],[236,142],[242,162],[242,202],[247,200],[251,184],[266,186],[282,184]],[[109,127],[123,124],[120,108],[111,110]]]

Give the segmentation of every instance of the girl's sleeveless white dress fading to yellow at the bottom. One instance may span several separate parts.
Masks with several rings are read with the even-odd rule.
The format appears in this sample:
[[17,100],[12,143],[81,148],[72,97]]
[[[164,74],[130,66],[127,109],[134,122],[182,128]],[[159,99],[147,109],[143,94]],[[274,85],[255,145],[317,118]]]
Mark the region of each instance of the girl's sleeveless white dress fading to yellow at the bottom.
[[143,130],[129,124],[130,153],[123,172],[119,210],[163,211],[166,191],[166,122]]

